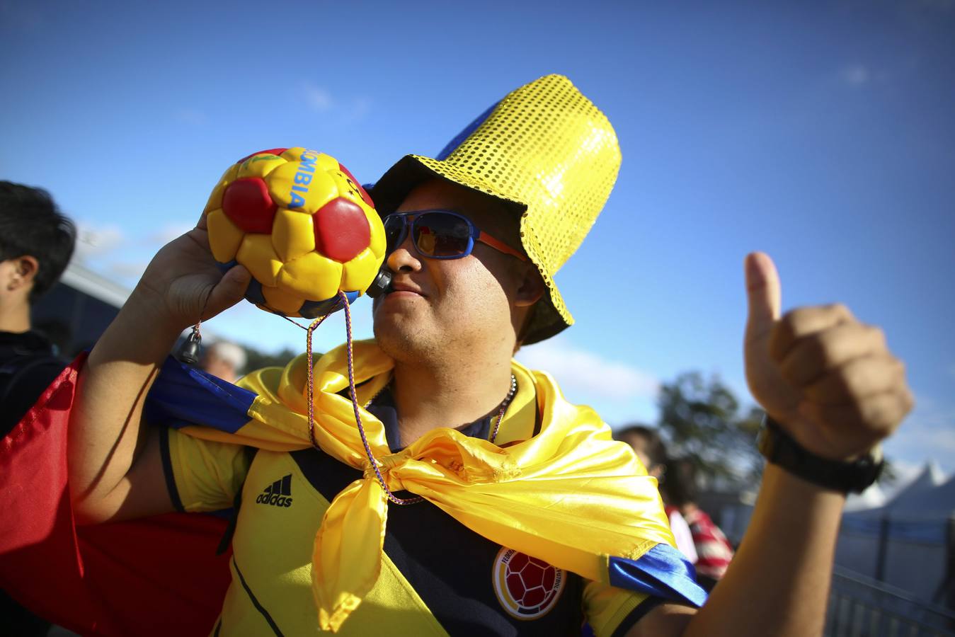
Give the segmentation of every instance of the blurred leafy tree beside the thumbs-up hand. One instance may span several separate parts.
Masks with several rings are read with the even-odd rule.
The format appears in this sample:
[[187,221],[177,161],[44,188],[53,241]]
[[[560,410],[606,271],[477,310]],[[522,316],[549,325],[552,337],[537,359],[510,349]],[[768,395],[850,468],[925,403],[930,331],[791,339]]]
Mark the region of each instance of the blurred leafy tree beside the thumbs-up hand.
[[755,439],[763,412],[742,411],[719,376],[683,372],[663,385],[659,406],[670,455],[690,457],[707,484],[732,488],[759,478],[763,461]]

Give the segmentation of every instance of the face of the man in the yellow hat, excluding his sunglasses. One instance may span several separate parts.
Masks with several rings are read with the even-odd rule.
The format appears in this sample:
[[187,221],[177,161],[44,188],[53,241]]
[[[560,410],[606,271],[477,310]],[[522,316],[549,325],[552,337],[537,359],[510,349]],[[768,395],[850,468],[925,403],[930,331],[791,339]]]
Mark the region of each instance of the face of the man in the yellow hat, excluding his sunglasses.
[[[520,249],[519,220],[478,193],[442,180],[416,187],[397,212],[452,210],[495,238]],[[495,346],[513,350],[515,308],[523,297],[528,267],[482,243],[461,259],[419,255],[411,233],[388,256],[393,291],[373,304],[374,334],[382,350],[406,362],[450,361]],[[520,312],[518,312],[520,314]],[[509,345],[508,345],[509,344]]]

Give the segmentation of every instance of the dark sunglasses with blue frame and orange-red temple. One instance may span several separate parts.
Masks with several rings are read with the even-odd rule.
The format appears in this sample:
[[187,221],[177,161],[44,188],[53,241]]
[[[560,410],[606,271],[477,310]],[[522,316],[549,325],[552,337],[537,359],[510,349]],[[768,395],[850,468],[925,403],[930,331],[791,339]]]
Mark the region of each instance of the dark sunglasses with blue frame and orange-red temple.
[[521,261],[527,257],[508,244],[483,232],[467,217],[450,210],[418,210],[416,212],[395,212],[385,217],[385,238],[388,252],[405,241],[408,228],[411,227],[414,249],[428,259],[460,259],[471,254],[475,242],[487,244],[510,254]]

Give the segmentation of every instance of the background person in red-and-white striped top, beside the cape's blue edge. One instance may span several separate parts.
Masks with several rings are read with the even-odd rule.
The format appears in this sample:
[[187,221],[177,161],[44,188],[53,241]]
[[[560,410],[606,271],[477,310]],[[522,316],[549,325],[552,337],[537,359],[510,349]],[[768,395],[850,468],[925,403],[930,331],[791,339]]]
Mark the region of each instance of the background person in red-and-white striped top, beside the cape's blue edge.
[[660,491],[667,512],[678,512],[690,526],[696,548],[696,582],[707,591],[726,573],[732,560],[732,546],[710,516],[696,505],[696,465],[690,458],[676,458],[667,464],[667,481]]

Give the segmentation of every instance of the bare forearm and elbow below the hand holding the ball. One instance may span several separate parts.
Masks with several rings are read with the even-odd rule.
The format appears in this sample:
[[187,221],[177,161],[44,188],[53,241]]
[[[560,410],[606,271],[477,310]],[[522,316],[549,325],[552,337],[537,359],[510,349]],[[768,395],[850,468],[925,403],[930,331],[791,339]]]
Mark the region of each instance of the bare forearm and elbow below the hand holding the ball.
[[101,502],[135,460],[146,393],[180,334],[157,317],[155,304],[134,291],[79,374],[68,457],[81,520],[102,517]]

